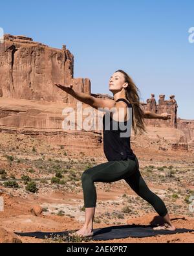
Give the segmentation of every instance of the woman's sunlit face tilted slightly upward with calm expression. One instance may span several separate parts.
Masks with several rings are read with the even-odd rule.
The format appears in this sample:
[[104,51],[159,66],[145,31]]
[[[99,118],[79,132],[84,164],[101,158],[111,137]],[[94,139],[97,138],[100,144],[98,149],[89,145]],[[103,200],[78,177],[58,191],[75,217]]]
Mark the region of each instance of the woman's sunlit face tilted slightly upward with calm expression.
[[121,72],[115,72],[109,79],[109,91],[121,91],[126,85],[124,74]]

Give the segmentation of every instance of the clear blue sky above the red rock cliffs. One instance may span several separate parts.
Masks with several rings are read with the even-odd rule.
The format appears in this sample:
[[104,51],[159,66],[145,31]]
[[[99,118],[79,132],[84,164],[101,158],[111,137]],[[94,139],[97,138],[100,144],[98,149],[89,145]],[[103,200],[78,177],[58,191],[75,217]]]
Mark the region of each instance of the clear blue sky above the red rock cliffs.
[[174,94],[178,117],[194,119],[193,0],[1,1],[0,27],[74,54],[74,77],[108,93],[109,77],[124,69],[146,102]]

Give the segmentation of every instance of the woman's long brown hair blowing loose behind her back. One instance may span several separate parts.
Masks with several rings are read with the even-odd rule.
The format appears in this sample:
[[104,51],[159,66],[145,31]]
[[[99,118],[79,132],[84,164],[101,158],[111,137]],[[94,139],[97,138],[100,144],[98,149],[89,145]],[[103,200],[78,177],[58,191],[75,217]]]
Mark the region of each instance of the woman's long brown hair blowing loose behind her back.
[[128,83],[128,86],[125,87],[125,97],[127,100],[129,100],[133,107],[132,128],[135,132],[135,135],[138,133],[138,131],[140,132],[140,134],[143,134],[144,132],[146,132],[146,126],[144,122],[144,111],[141,108],[140,97],[138,95],[140,91],[138,87],[136,87],[132,78],[127,73],[125,73],[125,71],[118,69],[115,72],[123,73],[125,76],[125,82]]

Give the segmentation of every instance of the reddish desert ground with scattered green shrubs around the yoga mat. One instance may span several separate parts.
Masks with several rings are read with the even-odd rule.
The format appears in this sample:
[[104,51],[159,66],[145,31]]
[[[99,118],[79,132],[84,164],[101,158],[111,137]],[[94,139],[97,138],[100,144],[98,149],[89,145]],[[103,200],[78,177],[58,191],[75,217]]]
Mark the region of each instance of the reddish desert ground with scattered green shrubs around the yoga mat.
[[[0,132],[0,211],[1,242],[90,242],[87,239],[36,239],[17,232],[67,231],[80,229],[85,220],[82,172],[107,161],[103,151],[70,150],[48,143],[44,136]],[[194,196],[193,148],[172,150],[167,141],[140,135],[132,148],[140,172],[151,191],[166,204],[173,224],[194,229],[190,196]],[[100,152],[100,153],[99,153]],[[140,198],[124,180],[95,183],[97,205],[94,229],[122,224],[158,223],[155,209]],[[114,239],[92,242],[146,243],[194,242],[194,232],[155,237]]]

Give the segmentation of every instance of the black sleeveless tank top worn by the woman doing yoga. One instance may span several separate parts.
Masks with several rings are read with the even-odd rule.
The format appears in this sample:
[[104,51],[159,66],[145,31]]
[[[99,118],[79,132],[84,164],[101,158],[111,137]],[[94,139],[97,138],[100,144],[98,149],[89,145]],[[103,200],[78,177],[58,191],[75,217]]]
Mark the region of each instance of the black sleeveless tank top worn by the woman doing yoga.
[[[125,99],[118,99],[118,101],[124,101],[127,103],[128,108],[132,108],[131,103],[129,103]],[[107,120],[110,122],[106,121],[106,127],[109,128],[109,130],[105,130],[105,115],[108,115]],[[113,120],[111,117],[110,113],[105,113],[103,115],[103,151],[105,156],[107,157],[108,161],[120,161],[120,160],[127,160],[127,158],[130,159],[135,159],[135,154],[133,153],[133,150],[131,149],[131,144],[130,144],[130,136],[129,137],[120,137],[120,133],[124,133],[127,128],[122,128],[120,130],[119,126],[119,121]],[[132,108],[132,121],[133,121],[133,108]],[[108,124],[107,124],[108,122]],[[124,125],[126,126],[127,121],[123,121]],[[115,128],[117,128],[115,130]],[[113,130],[114,128],[114,130]]]

